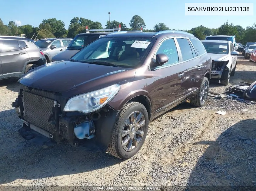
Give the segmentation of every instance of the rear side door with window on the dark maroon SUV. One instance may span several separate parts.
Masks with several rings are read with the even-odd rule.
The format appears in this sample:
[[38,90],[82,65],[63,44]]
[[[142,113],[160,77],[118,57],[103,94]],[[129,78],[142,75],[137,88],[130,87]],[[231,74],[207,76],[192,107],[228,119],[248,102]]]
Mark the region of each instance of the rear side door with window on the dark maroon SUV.
[[184,65],[184,83],[182,88],[184,96],[196,90],[201,85],[201,79],[203,75],[203,64],[200,62],[200,57],[196,58],[197,55],[195,50],[188,38],[177,37],[179,45],[179,53],[181,62]]

